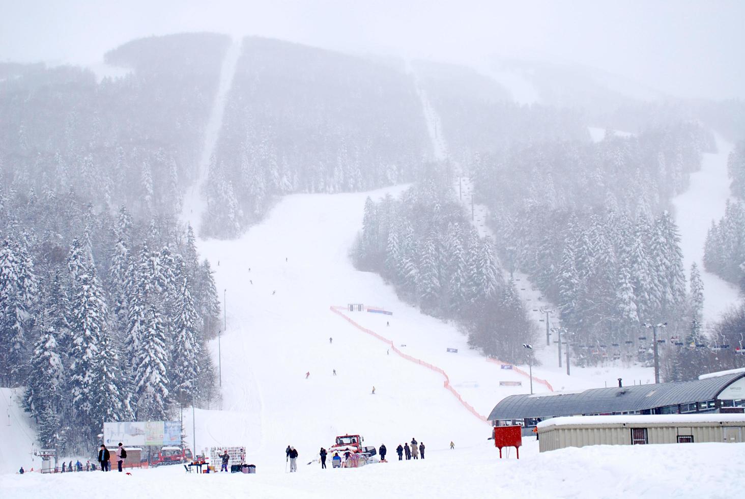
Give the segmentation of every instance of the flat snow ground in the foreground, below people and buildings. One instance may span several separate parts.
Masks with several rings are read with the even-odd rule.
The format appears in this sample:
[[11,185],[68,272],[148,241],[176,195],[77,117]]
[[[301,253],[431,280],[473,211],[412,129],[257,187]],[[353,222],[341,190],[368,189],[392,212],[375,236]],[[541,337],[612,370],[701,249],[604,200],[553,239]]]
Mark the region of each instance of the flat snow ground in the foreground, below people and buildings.
[[744,445],[598,445],[539,454],[535,440],[524,439],[523,443],[520,459],[515,459],[512,450],[509,459],[500,460],[495,448],[481,442],[472,448],[426,451],[424,460],[391,460],[358,469],[322,470],[315,462],[302,462],[297,474],[285,474],[284,459],[271,467],[257,468],[256,474],[186,474],[181,466],[135,470],[131,476],[115,471],[5,474],[0,475],[0,491],[14,499],[38,499],[51,490],[60,499],[80,498],[95,491],[141,499],[742,496],[741,483],[732,480],[732,470],[745,466]]

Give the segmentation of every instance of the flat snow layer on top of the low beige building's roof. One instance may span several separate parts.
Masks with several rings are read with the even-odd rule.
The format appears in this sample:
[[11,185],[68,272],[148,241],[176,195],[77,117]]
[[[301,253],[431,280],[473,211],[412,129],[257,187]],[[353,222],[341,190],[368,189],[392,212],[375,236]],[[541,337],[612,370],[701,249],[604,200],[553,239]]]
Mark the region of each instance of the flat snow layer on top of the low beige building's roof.
[[744,423],[745,414],[644,414],[644,415],[601,415],[601,416],[563,416],[541,421],[539,428],[568,426],[577,424],[691,424],[691,423]]

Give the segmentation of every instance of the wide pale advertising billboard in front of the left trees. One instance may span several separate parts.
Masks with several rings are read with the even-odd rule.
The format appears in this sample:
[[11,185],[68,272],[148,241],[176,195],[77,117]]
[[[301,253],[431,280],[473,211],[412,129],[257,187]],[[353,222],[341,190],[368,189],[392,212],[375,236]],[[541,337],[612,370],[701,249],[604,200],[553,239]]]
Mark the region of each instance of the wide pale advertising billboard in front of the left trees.
[[130,447],[181,445],[179,421],[114,421],[104,423],[104,444]]

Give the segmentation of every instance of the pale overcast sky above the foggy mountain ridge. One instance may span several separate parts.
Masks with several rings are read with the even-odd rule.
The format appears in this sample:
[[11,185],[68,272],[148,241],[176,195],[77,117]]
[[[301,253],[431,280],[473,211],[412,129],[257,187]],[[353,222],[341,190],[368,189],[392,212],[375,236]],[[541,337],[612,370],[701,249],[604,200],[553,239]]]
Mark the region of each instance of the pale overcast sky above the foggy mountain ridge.
[[183,31],[575,62],[674,95],[745,98],[745,0],[0,0],[0,61],[95,63],[128,40]]

